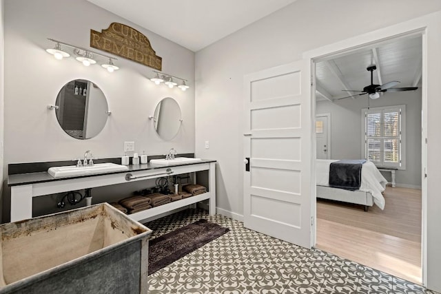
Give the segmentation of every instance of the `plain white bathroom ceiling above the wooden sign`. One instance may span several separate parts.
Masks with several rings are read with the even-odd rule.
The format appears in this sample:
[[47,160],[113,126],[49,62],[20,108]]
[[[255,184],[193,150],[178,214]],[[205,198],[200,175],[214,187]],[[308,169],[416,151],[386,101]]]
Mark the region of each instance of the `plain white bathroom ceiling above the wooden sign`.
[[296,0],[88,0],[194,52]]

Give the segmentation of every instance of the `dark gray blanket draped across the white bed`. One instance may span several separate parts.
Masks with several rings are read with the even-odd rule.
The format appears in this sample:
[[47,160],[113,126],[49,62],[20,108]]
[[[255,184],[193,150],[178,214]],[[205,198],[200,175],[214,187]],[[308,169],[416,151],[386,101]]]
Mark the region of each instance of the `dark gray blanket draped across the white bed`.
[[366,160],[338,160],[329,165],[329,187],[358,190],[361,183],[361,168]]

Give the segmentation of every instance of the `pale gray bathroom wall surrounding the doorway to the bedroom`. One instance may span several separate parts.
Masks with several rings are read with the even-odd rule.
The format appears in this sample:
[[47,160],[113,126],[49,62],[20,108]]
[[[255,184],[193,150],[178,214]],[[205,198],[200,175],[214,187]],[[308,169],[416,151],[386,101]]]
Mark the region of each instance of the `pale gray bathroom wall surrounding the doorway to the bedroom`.
[[[372,6],[375,21],[369,15]],[[243,76],[302,59],[302,54],[325,45],[367,34],[441,10],[439,0],[298,0],[196,52],[196,156],[218,160],[218,212],[243,219]],[[360,14],[361,12],[361,14]],[[393,13],[391,13],[393,12]],[[421,26],[426,25],[421,21]],[[427,257],[429,286],[441,290],[441,17],[430,18],[427,38]],[[412,29],[415,25],[412,26]],[[360,40],[361,41],[361,40]],[[340,43],[341,44],[341,43]],[[216,127],[221,125],[222,127]],[[209,149],[204,141],[209,140]],[[358,143],[360,144],[360,143]],[[437,247],[438,246],[438,247]]]

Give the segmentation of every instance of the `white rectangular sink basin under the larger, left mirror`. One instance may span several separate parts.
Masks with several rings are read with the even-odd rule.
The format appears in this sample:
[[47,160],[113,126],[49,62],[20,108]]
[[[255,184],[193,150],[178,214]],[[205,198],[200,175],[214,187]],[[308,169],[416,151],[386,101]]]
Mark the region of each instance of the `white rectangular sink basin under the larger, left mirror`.
[[65,167],[50,167],[48,173],[54,178],[64,178],[68,176],[88,176],[94,174],[103,174],[112,171],[127,171],[125,165],[116,165],[115,163],[98,163],[90,167],[76,167],[68,165]]

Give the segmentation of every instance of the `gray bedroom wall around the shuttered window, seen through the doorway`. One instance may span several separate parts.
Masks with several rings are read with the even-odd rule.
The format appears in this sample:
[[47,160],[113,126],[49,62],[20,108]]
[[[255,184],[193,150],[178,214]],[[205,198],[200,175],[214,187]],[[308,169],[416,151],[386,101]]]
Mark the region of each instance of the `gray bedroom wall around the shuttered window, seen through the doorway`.
[[[406,105],[406,170],[396,172],[402,187],[421,188],[421,90],[387,93],[371,100],[371,107]],[[316,113],[331,114],[331,159],[358,159],[362,156],[361,109],[367,98],[319,101]],[[391,180],[390,173],[383,173]]]

